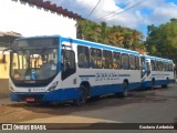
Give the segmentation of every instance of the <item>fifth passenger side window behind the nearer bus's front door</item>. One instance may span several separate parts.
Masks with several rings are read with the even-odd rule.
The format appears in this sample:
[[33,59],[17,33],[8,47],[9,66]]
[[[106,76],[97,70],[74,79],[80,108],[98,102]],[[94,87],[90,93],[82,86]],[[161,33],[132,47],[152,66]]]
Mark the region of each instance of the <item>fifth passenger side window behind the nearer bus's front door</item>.
[[129,55],[123,53],[122,54],[122,69],[123,70],[128,70],[129,69]]

